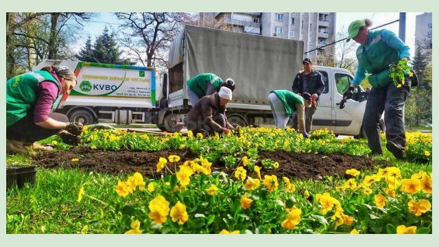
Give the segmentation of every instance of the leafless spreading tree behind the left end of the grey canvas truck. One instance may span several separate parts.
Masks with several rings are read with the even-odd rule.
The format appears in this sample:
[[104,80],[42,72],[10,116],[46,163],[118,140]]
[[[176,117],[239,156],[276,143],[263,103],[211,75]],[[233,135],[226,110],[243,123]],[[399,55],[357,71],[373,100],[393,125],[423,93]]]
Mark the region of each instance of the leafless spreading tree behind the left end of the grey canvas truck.
[[123,21],[121,43],[130,49],[130,54],[147,67],[165,63],[167,50],[182,27],[182,13],[130,12],[116,13]]

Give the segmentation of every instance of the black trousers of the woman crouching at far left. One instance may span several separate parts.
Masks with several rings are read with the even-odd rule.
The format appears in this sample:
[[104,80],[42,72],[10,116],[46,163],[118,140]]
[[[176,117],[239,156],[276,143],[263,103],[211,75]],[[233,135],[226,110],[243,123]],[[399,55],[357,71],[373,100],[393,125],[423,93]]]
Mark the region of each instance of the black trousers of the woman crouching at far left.
[[[50,118],[67,123],[69,118],[61,113],[50,113]],[[58,134],[61,130],[48,129],[34,123],[34,115],[28,114],[6,129],[6,139],[34,143]]]

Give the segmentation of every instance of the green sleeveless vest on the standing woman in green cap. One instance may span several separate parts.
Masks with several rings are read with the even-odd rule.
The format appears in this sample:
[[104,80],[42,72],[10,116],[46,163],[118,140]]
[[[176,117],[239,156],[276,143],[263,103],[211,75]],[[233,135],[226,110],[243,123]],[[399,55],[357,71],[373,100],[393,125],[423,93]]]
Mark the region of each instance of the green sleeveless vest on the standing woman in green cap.
[[399,61],[399,51],[386,45],[381,40],[381,30],[369,31],[370,42],[366,47],[359,45],[357,48],[357,58],[368,73],[369,82],[372,86],[380,87],[390,82],[390,64],[396,64]]

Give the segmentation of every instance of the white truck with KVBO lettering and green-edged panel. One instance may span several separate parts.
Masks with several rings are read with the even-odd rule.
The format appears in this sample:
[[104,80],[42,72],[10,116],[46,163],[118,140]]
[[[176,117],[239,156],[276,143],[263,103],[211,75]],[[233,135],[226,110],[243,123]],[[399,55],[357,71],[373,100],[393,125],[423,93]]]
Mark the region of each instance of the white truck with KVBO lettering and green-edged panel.
[[[34,70],[51,65],[74,69],[78,84],[64,95],[57,111],[82,124],[150,123],[157,119],[154,68],[72,60],[44,60]],[[154,116],[155,115],[155,116]],[[157,120],[155,121],[157,122]]]

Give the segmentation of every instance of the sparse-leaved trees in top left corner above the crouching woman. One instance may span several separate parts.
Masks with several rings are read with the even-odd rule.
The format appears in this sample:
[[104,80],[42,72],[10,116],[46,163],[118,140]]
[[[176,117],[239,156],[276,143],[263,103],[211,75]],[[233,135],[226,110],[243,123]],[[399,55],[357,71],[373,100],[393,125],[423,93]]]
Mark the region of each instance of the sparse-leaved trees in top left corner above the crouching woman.
[[[78,35],[78,25],[93,13],[7,13],[7,78],[31,69],[44,58],[69,58],[69,43]],[[59,52],[62,56],[60,57]],[[21,66],[22,69],[17,69]]]

